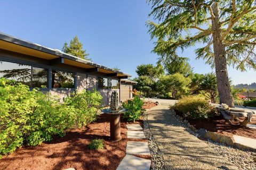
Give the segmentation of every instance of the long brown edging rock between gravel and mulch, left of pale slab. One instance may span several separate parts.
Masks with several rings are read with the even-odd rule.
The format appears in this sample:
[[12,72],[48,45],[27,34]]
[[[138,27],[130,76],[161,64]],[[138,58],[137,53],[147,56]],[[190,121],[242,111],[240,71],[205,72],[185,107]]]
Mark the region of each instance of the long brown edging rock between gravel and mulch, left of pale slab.
[[207,132],[204,137],[213,141],[225,143],[226,145],[234,145],[235,143],[233,138],[215,132]]

